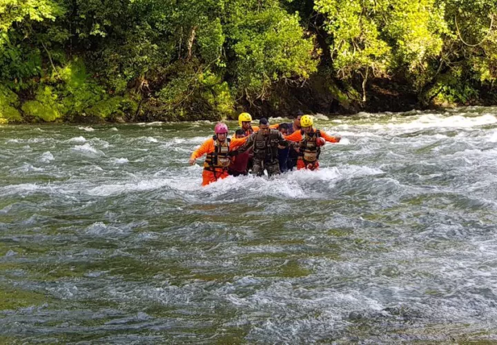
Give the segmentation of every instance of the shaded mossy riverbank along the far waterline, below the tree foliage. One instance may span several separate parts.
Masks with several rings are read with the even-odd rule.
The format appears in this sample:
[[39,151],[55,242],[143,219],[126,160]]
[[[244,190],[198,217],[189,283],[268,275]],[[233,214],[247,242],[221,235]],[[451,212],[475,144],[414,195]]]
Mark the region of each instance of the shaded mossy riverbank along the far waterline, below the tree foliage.
[[[0,90],[1,91],[1,90]],[[497,97],[491,90],[482,90],[483,97],[465,103],[432,99],[422,103],[409,86],[392,83],[388,79],[376,79],[367,88],[367,101],[351,86],[339,85],[321,77],[313,77],[299,88],[276,86],[267,100],[249,102],[242,100],[231,109],[219,112],[204,104],[204,109],[191,111],[168,111],[166,105],[158,104],[152,95],[144,97],[133,92],[124,96],[104,99],[97,105],[81,112],[63,112],[67,101],[56,97],[53,92],[51,102],[43,99],[21,99],[13,92],[4,89],[3,101],[0,93],[0,124],[125,124],[153,121],[220,121],[237,119],[240,112],[250,112],[254,119],[261,117],[291,118],[298,111],[306,114],[324,114],[329,117],[355,115],[358,112],[408,112],[411,110],[441,110],[458,106],[492,106]],[[9,101],[10,99],[10,101]],[[69,98],[70,99],[70,98]],[[13,100],[13,101],[12,101]],[[195,111],[194,111],[195,110]]]

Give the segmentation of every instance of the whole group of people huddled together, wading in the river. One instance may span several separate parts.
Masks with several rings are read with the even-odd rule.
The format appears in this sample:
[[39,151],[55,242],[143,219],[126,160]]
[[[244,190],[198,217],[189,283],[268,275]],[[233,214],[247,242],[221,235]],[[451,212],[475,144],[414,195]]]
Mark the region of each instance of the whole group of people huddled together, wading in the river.
[[249,171],[262,176],[266,170],[271,177],[295,168],[317,170],[321,147],[326,141],[338,143],[341,139],[315,129],[310,115],[299,114],[291,123],[274,125],[263,118],[259,126],[252,126],[252,116],[243,112],[238,124],[240,128],[231,138],[226,124],[216,124],[213,137],[192,153],[190,165],[206,155],[202,186]]

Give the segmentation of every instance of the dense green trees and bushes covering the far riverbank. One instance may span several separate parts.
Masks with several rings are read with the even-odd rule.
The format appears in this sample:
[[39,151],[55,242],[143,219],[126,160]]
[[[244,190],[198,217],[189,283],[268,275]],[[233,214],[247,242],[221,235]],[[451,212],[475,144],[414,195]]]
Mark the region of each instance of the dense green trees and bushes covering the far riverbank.
[[496,0],[0,0],[0,122],[494,102],[496,14]]

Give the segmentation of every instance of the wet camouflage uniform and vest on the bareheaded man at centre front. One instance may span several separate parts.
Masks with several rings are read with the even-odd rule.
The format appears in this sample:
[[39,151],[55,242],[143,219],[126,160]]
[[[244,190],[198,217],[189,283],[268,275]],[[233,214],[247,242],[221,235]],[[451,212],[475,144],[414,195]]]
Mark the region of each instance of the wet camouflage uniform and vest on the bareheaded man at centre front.
[[253,133],[237,151],[245,152],[252,148],[253,175],[262,176],[265,169],[268,175],[271,176],[280,173],[278,146],[286,147],[288,143],[280,132],[272,129],[268,135],[263,135],[262,132]]

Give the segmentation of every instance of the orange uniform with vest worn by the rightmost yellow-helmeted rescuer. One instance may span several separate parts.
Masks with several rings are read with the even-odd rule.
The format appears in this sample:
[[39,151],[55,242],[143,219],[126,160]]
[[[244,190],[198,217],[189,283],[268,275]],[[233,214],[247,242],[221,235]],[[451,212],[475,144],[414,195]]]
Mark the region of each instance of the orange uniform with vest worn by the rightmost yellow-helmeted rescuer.
[[293,132],[291,135],[284,137],[287,141],[298,142],[299,156],[297,160],[297,169],[309,169],[318,170],[319,168],[319,156],[321,153],[321,148],[316,144],[318,138],[323,138],[330,143],[338,143],[340,138],[331,137],[322,130],[315,130],[309,134],[304,132],[304,130],[298,130]]

